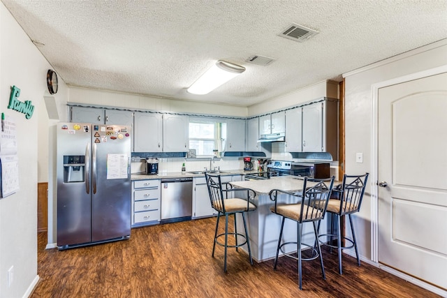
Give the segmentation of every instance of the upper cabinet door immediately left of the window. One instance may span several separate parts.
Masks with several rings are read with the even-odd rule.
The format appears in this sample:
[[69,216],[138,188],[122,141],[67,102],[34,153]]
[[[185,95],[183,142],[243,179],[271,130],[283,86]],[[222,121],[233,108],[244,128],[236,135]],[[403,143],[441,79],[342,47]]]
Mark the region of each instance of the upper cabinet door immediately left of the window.
[[163,114],[163,151],[186,152],[189,148],[189,117]]

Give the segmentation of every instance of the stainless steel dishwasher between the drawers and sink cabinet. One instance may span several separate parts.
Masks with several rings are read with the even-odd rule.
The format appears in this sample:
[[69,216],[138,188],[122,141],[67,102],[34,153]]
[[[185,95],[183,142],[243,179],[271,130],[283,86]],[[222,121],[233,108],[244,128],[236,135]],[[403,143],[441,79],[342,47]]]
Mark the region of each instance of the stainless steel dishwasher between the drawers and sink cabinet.
[[193,214],[193,179],[161,179],[161,221],[182,221]]

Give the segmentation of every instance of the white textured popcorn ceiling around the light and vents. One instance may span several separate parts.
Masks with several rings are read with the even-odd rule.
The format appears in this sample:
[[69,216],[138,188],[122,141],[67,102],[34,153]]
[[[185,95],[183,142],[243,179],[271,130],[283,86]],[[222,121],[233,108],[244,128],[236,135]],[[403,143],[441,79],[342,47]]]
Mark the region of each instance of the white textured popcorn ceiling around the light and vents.
[[[2,0],[68,85],[249,106],[447,38],[447,0]],[[279,37],[291,23],[319,33]],[[249,64],[253,55],[277,59]],[[247,68],[186,89],[215,61]]]

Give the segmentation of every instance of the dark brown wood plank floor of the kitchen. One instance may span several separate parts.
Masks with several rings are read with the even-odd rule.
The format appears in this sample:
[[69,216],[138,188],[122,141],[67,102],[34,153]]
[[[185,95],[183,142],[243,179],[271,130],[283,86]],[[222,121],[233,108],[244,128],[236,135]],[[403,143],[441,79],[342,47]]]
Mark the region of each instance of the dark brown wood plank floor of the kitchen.
[[374,266],[323,252],[326,280],[318,260],[303,262],[298,289],[296,262],[280,258],[249,264],[248,256],[223,248],[211,257],[215,218],[133,229],[131,239],[67,251],[45,250],[38,233],[38,274],[31,297],[438,297]]

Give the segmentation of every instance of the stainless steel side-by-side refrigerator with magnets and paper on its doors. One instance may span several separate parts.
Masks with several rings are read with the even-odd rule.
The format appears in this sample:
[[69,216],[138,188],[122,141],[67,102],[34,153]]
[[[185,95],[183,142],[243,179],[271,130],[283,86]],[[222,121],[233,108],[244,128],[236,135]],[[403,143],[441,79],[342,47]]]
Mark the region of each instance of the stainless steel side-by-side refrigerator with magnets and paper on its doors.
[[57,124],[57,246],[131,234],[131,127]]

